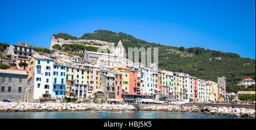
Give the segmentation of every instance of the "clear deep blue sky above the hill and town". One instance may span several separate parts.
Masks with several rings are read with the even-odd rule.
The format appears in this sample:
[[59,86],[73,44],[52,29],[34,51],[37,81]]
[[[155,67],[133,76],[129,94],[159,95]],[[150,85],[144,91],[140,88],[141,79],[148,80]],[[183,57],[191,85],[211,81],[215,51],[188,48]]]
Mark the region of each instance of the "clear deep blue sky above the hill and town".
[[162,45],[255,59],[255,0],[3,1],[0,42],[47,47],[52,34],[106,29]]

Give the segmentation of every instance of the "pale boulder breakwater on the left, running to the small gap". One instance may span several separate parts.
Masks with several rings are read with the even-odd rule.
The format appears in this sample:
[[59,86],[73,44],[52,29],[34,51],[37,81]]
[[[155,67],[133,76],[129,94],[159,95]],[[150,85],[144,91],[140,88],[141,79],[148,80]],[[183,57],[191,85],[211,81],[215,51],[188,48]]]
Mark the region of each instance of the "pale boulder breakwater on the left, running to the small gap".
[[131,105],[110,105],[91,103],[15,103],[0,102],[0,112],[23,111],[123,111],[135,110]]

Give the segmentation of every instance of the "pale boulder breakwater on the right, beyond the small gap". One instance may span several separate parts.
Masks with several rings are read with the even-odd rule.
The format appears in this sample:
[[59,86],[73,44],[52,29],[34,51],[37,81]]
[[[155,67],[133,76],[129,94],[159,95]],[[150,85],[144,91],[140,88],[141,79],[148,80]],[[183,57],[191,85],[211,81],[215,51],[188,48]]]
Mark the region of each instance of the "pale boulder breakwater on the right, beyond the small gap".
[[245,108],[232,108],[232,107],[179,107],[174,105],[153,105],[144,107],[144,111],[172,111],[172,112],[204,112],[205,114],[211,115],[223,115],[223,116],[238,116],[245,118],[255,118],[254,109],[245,109]]

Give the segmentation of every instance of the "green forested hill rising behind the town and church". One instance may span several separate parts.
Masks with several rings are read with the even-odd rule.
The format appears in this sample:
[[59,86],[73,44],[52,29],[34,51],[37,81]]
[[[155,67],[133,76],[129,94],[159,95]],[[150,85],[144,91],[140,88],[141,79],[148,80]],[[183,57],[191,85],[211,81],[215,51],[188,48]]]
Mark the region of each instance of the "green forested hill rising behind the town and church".
[[[53,36],[65,39],[101,40],[114,42],[115,45],[121,40],[126,50],[127,47],[159,47],[159,67],[161,70],[184,72],[203,80],[215,82],[217,82],[217,77],[225,76],[227,92],[237,93],[238,90],[244,90],[244,87],[237,85],[242,79],[252,78],[255,80],[255,59],[241,58],[240,55],[234,53],[223,53],[201,47],[185,49],[184,47],[164,46],[139,40],[122,32],[115,33],[105,30],[85,33],[80,38],[70,36],[67,33],[54,34]],[[255,87],[249,90],[255,90]]]

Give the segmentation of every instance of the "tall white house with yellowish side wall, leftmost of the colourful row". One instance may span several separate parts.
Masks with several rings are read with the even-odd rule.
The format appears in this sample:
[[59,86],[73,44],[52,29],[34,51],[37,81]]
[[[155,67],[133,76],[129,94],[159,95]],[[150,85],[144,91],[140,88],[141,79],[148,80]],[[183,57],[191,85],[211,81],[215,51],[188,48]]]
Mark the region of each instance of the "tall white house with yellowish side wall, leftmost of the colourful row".
[[27,102],[39,102],[40,99],[53,99],[51,98],[53,92],[52,76],[53,59],[44,55],[32,55],[28,64]]

